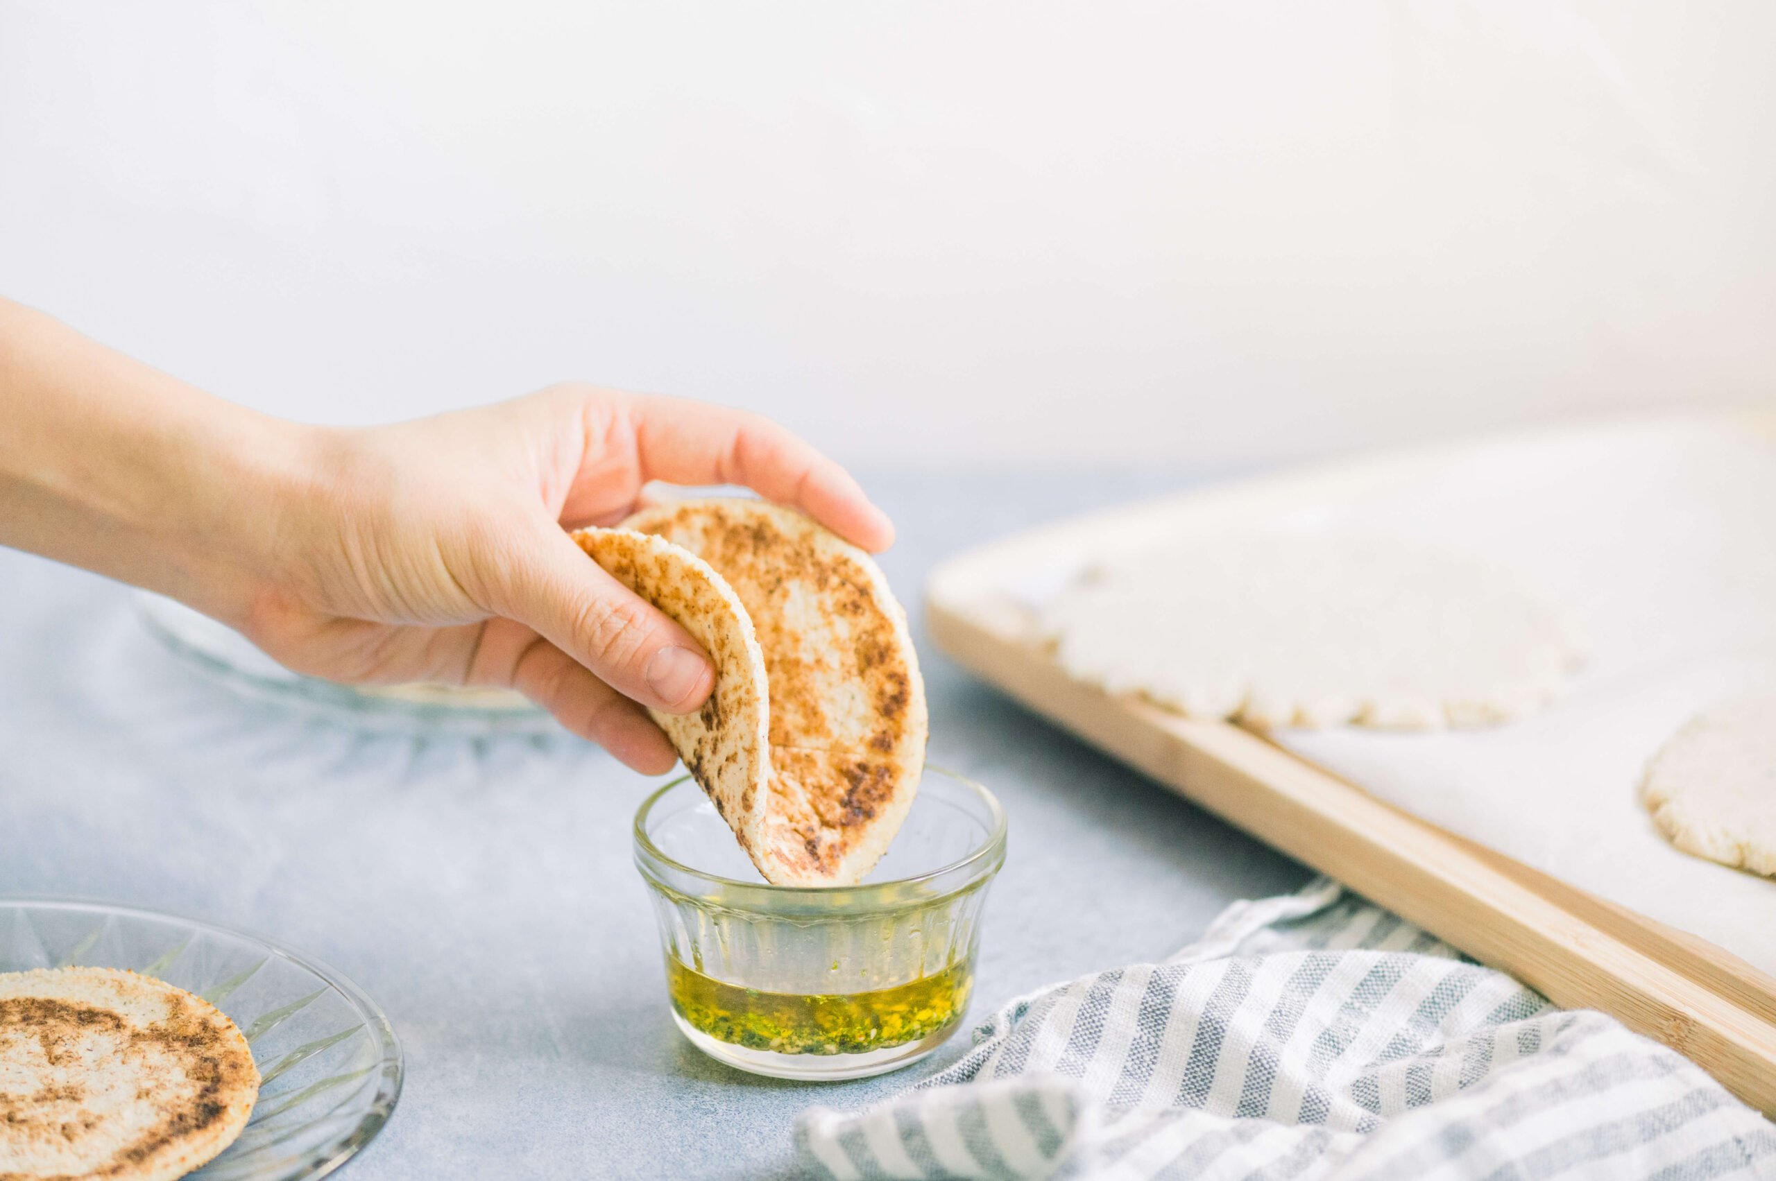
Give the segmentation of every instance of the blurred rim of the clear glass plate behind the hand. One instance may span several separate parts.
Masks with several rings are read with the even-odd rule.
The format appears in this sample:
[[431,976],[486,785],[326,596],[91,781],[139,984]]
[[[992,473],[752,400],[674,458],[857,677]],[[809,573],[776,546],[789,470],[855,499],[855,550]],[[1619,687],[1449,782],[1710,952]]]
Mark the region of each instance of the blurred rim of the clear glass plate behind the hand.
[[291,673],[234,629],[165,595],[137,591],[135,606],[147,630],[185,664],[261,701],[295,705],[375,732],[460,735],[556,732],[545,710],[510,689],[341,686]]

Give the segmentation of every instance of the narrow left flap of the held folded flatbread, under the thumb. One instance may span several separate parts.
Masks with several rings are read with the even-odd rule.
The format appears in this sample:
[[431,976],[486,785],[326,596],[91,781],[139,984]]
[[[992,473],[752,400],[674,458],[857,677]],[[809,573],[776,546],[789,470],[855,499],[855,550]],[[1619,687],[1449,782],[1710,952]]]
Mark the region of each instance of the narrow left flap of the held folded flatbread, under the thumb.
[[771,694],[746,607],[709,563],[664,538],[634,529],[581,529],[574,540],[611,577],[691,632],[714,661],[716,687],[700,710],[648,714],[666,732],[691,778],[709,792],[741,847],[758,863],[753,833],[760,828],[771,776]]

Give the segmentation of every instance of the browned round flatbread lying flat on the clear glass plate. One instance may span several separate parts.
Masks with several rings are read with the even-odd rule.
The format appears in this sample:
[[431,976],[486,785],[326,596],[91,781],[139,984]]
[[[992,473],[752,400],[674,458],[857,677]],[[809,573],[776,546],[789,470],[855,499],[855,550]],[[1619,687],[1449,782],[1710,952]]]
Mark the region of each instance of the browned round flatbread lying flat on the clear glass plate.
[[0,975],[0,1177],[183,1177],[234,1142],[259,1071],[215,1005],[115,968]]

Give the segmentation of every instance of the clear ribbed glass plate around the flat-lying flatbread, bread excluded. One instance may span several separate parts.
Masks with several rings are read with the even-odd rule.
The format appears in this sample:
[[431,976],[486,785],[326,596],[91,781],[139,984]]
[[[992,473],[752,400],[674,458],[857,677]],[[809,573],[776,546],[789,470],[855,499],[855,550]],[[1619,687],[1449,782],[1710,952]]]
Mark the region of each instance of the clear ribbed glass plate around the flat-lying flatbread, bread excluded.
[[252,1044],[252,1121],[194,1177],[325,1176],[369,1144],[401,1096],[401,1048],[382,1011],[275,943],[126,906],[0,897],[0,971],[67,966],[131,968],[197,993]]

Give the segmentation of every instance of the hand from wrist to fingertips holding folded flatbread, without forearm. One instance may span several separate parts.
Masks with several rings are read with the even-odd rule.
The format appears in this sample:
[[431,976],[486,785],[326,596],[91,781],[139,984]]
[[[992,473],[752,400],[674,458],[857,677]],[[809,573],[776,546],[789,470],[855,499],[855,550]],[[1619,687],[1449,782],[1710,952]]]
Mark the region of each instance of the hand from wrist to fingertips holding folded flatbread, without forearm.
[[[284,426],[284,424],[279,424]],[[300,428],[298,428],[300,430]],[[739,483],[879,551],[844,469],[739,410],[590,385],[369,430],[320,430],[277,497],[266,577],[224,609],[279,662],[357,684],[511,687],[630,767],[677,755],[639,709],[714,687],[677,623],[565,529],[614,524],[650,480]]]

